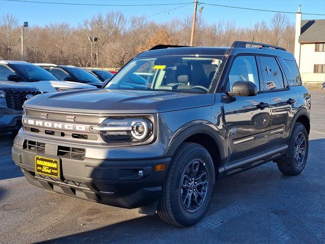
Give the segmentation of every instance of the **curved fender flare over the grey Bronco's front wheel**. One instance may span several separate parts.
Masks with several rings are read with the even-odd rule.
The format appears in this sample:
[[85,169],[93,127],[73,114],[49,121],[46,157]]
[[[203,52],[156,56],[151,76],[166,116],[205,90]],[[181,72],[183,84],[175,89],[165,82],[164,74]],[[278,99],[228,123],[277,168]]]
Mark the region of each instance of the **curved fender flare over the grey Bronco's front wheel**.
[[225,158],[225,140],[221,135],[219,129],[208,121],[191,121],[178,129],[165,153],[166,157],[172,157],[177,148],[190,136],[195,134],[207,134],[210,136],[218,145],[221,160]]

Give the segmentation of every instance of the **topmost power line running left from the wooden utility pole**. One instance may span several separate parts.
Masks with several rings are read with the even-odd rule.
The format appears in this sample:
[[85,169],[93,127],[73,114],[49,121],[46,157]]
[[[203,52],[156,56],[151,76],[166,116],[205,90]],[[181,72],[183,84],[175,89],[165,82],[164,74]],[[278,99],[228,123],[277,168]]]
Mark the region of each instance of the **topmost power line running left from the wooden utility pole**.
[[79,6],[113,6],[113,7],[136,7],[136,6],[168,6],[168,5],[184,5],[192,4],[194,2],[187,3],[173,3],[173,4],[74,4],[74,3],[62,3],[62,2],[40,2],[29,0],[2,0],[8,2],[20,2],[20,3],[33,3],[33,4],[60,4],[60,5],[79,5]]

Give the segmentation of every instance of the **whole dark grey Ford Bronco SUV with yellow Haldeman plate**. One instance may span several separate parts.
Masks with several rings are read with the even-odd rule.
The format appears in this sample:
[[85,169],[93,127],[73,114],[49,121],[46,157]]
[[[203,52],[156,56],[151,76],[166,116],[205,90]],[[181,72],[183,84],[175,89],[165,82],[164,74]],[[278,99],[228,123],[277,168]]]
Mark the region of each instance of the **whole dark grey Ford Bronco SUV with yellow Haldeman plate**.
[[32,185],[190,226],[217,179],[270,161],[303,171],[310,105],[283,48],[158,45],[103,89],[28,100],[12,157]]

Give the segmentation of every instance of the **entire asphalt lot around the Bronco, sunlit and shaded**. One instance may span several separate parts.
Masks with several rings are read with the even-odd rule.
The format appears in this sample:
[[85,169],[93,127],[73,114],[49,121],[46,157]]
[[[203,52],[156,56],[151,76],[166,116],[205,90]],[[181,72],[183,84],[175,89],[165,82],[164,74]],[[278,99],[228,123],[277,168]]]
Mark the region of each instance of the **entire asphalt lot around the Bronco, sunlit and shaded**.
[[30,185],[0,140],[0,243],[325,243],[325,90],[312,91],[309,157],[298,176],[267,163],[217,181],[207,216],[177,228],[157,215]]

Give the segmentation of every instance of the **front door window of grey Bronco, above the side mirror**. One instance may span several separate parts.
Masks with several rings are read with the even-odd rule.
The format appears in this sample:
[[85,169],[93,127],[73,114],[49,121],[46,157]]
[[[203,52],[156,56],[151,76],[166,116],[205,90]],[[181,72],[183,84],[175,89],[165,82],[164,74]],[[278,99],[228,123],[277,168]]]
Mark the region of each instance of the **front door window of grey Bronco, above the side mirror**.
[[251,81],[259,90],[258,72],[254,56],[238,56],[229,73],[229,90],[233,90],[236,81]]

